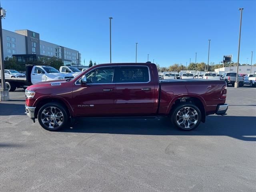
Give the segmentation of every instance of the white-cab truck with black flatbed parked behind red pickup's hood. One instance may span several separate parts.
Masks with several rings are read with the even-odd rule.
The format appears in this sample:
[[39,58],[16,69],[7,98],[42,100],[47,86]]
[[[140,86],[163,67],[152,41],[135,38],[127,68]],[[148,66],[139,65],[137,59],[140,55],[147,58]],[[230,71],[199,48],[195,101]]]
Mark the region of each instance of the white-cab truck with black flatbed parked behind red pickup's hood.
[[6,82],[6,87],[9,91],[15,91],[16,88],[26,89],[28,86],[38,82],[69,79],[69,78],[74,78],[74,76],[60,73],[58,70],[50,66],[27,65],[26,78],[5,77],[5,82]]

